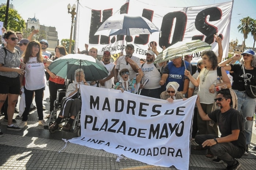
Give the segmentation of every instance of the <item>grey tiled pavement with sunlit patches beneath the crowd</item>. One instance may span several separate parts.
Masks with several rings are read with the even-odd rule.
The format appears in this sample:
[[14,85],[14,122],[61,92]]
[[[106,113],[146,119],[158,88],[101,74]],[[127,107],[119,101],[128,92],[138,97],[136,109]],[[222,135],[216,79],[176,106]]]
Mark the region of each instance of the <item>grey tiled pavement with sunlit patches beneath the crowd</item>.
[[[46,87],[48,89],[48,87]],[[45,90],[45,97],[49,91]],[[46,110],[49,110],[49,98],[44,99]],[[44,111],[44,115],[49,111]],[[14,117],[18,114],[14,114]],[[7,122],[0,117],[1,131],[4,137],[0,137],[0,169],[27,169],[27,170],[49,170],[49,169],[147,169],[147,170],[172,170],[175,167],[159,167],[147,165],[133,159],[125,158],[116,162],[116,155],[103,150],[91,149],[89,147],[68,143],[67,147],[62,139],[76,137],[76,133],[57,131],[50,134],[42,126],[38,126],[37,111],[31,112],[28,127],[22,131],[6,130]],[[16,119],[17,124],[21,119]],[[45,119],[46,120],[46,119]],[[191,148],[195,146],[191,142]],[[256,152],[251,148],[256,146],[256,130],[253,124],[252,143],[249,146],[249,155],[238,159],[241,170],[256,169]],[[61,150],[63,149],[63,150]],[[59,153],[59,151],[61,152]],[[206,151],[195,151],[191,149],[189,169],[191,170],[221,170],[225,169],[225,163],[214,163],[213,158],[206,158]]]

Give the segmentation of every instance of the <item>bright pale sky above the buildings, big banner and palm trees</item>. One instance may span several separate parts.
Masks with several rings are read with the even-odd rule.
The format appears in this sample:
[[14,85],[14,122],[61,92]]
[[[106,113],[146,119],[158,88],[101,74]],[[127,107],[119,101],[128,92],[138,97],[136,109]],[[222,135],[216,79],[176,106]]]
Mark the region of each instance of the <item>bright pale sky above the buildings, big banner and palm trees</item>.
[[[89,0],[80,0],[86,3],[92,3]],[[111,3],[112,0],[102,0],[102,3]],[[142,0],[144,1],[144,0]],[[192,7],[201,5],[210,5],[229,2],[231,0],[146,0],[148,4],[165,5],[169,7]],[[6,3],[7,0],[0,0],[0,3]],[[39,19],[40,25],[56,27],[58,38],[69,39],[71,30],[71,14],[68,13],[67,5],[77,5],[76,0],[10,0],[10,4],[27,21],[34,16]],[[84,3],[83,3],[84,4]],[[256,19],[256,1],[255,0],[234,0],[233,12],[231,17],[230,41],[238,40],[242,44],[243,34],[238,32],[237,26],[240,19],[250,16]],[[87,43],[87,42],[85,42]],[[253,46],[253,37],[248,35],[245,40],[247,47]]]

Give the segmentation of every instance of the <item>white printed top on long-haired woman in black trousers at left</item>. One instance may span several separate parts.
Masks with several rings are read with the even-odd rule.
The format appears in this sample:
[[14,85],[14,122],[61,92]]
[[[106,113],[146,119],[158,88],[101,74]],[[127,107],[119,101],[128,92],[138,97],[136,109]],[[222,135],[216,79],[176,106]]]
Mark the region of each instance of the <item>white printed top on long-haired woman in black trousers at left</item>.
[[[22,61],[24,59],[22,58]],[[27,90],[38,90],[46,85],[45,66],[37,57],[30,57],[25,67],[25,87]]]

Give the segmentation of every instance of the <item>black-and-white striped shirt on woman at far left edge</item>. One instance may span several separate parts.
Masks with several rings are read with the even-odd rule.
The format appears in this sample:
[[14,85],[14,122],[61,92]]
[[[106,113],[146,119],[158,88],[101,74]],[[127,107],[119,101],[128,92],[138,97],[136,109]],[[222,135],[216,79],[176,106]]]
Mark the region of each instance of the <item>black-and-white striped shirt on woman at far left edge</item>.
[[[3,64],[4,67],[9,67],[9,68],[19,68],[20,67],[20,54],[17,49],[15,49],[15,53],[12,53],[8,50],[7,55],[5,57],[5,52],[3,48],[0,48],[0,64]],[[1,76],[5,77],[18,77],[18,73],[15,71],[11,72],[5,72],[5,71],[0,71]]]

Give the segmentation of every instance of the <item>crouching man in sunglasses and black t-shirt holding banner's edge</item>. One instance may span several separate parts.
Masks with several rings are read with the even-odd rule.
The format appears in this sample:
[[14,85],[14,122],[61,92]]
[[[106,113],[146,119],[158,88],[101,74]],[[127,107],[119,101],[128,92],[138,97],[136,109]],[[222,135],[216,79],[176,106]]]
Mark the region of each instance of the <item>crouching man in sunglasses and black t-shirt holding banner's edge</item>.
[[233,101],[229,89],[218,91],[214,101],[219,109],[209,114],[203,111],[199,97],[196,104],[203,120],[213,120],[218,124],[221,137],[212,134],[196,135],[195,142],[210,149],[219,163],[227,163],[226,169],[238,169],[241,164],[235,158],[241,158],[246,149],[242,114],[231,108]]

